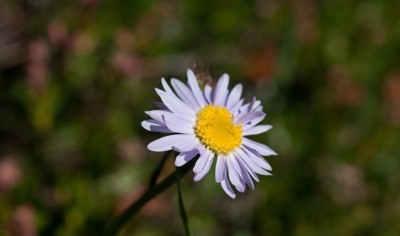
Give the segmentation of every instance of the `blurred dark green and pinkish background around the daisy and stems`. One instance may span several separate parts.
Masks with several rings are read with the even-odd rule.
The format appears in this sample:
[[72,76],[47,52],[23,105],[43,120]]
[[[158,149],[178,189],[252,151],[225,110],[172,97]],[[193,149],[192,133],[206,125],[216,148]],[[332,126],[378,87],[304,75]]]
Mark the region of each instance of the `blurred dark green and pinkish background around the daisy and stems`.
[[[182,193],[194,235],[400,234],[400,2],[0,3],[0,235],[99,235],[147,187],[160,78],[209,67],[256,96],[279,155],[230,199]],[[174,171],[173,159],[161,178]],[[120,235],[182,235],[176,185]]]

